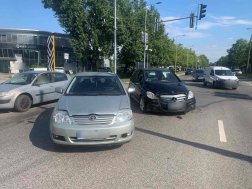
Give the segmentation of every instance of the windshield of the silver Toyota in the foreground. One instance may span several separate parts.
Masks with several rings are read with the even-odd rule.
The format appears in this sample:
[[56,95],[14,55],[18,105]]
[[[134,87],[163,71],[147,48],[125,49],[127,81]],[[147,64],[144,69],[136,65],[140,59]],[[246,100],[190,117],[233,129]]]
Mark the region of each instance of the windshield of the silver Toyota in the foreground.
[[69,96],[125,95],[117,77],[76,76],[66,90]]

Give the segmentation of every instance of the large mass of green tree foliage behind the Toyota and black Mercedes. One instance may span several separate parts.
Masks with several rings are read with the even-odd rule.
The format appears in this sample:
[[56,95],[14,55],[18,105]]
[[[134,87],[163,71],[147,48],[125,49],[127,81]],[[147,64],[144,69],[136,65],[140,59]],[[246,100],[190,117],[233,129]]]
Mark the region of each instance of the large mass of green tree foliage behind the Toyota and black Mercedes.
[[[45,8],[52,9],[55,17],[65,32],[72,38],[80,57],[87,57],[95,68],[100,58],[113,56],[114,48],[114,0],[42,0]],[[125,67],[143,62],[144,44],[141,32],[145,22],[147,2],[145,0],[117,0],[117,45],[118,59]],[[147,23],[160,19],[160,14],[151,6],[147,11]],[[189,22],[189,21],[188,21]],[[173,66],[175,63],[176,45],[165,32],[165,25],[159,23],[158,32],[154,32],[154,24],[148,24],[149,44],[147,54],[151,57],[151,66]],[[177,66],[195,67],[197,55],[182,44],[177,45]],[[202,57],[202,65],[206,64]],[[208,63],[208,62],[207,62]],[[82,65],[84,67],[84,65]]]

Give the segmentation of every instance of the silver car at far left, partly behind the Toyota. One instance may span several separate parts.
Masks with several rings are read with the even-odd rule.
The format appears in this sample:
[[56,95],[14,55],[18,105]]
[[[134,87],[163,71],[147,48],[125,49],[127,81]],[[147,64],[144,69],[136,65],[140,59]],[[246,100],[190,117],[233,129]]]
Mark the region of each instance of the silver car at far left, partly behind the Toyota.
[[0,109],[25,112],[31,105],[60,98],[56,87],[64,88],[71,80],[60,72],[29,71],[15,75],[0,85]]

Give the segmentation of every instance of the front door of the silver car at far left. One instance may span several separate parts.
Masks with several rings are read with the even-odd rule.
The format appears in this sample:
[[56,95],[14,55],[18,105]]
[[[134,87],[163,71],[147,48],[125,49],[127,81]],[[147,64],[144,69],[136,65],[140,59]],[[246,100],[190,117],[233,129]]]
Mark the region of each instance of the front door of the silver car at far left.
[[43,73],[37,77],[32,84],[35,95],[34,104],[46,102],[54,99],[54,86],[50,73]]

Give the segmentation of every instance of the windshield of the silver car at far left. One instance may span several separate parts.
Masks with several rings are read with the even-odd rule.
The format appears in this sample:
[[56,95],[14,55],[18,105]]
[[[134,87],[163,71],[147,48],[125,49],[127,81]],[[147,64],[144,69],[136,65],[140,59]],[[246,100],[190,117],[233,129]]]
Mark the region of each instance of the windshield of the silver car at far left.
[[15,85],[27,85],[27,84],[30,84],[37,75],[38,75],[37,73],[20,73],[13,76],[11,79],[7,80],[5,83],[15,84]]

